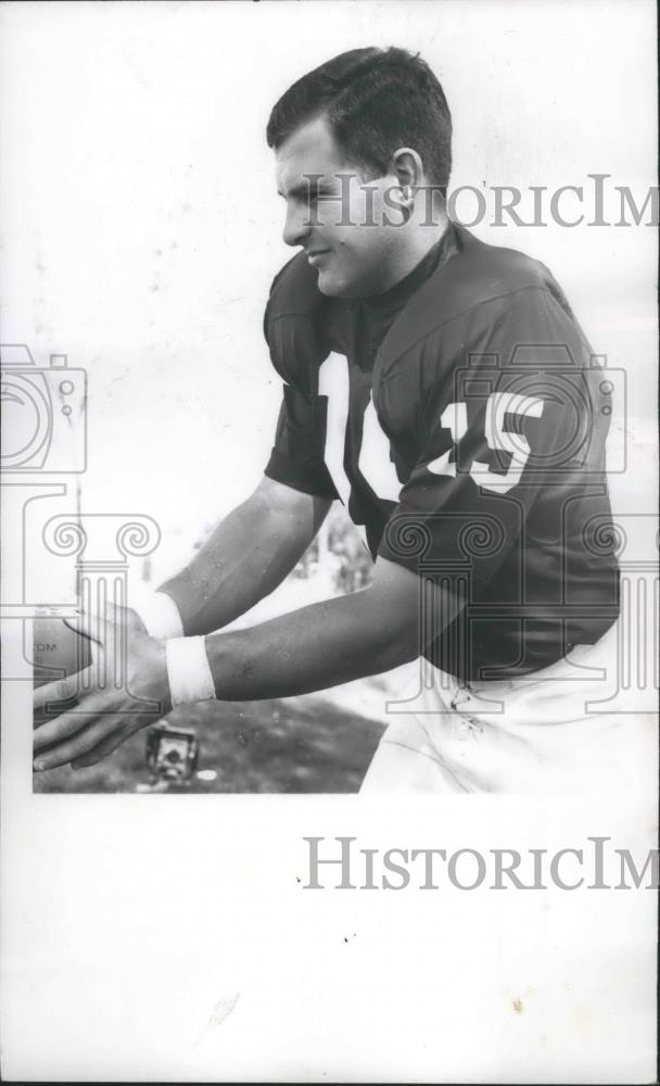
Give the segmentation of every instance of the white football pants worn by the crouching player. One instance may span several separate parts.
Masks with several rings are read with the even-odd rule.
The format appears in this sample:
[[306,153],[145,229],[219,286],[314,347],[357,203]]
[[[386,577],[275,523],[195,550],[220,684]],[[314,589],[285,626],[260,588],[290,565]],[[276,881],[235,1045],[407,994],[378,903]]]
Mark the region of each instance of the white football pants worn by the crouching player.
[[510,681],[466,683],[420,659],[416,684],[388,705],[360,792],[653,796],[656,679],[646,668],[639,683],[624,648],[617,622],[596,645]]

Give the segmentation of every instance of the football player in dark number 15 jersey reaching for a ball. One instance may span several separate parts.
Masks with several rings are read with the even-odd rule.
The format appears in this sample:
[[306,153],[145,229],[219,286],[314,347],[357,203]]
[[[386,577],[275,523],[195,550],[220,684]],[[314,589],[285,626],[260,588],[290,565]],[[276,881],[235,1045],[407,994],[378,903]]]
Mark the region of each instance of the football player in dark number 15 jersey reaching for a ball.
[[[419,658],[365,788],[510,792],[633,780],[646,733],[587,710],[619,614],[605,473],[611,384],[551,274],[446,214],[452,121],[419,56],[357,49],[294,84],[267,139],[300,249],[265,334],[282,403],[254,494],[127,639],[135,694],[287,697]],[[340,500],[369,588],[221,630],[290,572]],[[605,541],[605,542],[604,542]],[[89,766],[154,719],[93,680],[36,731],[36,768]],[[636,737],[635,737],[636,736]]]

